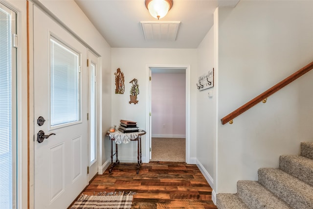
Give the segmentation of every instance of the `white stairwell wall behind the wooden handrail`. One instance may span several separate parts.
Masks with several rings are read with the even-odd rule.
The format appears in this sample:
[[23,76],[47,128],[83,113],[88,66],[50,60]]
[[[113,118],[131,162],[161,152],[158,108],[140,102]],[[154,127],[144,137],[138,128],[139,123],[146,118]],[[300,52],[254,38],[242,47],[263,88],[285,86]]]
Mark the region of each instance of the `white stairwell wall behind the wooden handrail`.
[[[219,119],[313,60],[313,1],[246,1],[219,8]],[[313,71],[218,124],[217,193],[257,180],[282,154],[313,141]]]

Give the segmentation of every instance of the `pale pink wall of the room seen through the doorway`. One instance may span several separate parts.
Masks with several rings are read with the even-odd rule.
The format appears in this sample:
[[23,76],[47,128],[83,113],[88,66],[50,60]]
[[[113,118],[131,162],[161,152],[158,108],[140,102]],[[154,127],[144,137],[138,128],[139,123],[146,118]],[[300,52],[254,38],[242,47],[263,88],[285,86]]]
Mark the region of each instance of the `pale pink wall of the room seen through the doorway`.
[[152,73],[152,137],[184,138],[185,73]]

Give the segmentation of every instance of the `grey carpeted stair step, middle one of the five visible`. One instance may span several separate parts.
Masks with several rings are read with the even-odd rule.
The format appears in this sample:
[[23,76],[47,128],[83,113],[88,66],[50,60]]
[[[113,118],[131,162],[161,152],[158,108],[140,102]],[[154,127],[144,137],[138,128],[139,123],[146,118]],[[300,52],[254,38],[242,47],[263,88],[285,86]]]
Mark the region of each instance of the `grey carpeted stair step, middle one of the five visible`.
[[313,209],[313,186],[278,168],[260,168],[258,182],[293,209]]

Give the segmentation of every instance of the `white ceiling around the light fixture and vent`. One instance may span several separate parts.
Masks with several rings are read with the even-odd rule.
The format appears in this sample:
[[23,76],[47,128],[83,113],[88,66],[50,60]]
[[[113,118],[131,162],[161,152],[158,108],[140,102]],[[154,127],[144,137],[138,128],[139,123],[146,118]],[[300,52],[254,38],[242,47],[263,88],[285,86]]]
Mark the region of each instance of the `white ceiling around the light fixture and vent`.
[[145,0],[75,0],[111,47],[197,48],[213,25],[220,6],[234,7],[239,0],[173,0],[161,22],[180,21],[176,41],[146,41],[142,21],[156,21]]

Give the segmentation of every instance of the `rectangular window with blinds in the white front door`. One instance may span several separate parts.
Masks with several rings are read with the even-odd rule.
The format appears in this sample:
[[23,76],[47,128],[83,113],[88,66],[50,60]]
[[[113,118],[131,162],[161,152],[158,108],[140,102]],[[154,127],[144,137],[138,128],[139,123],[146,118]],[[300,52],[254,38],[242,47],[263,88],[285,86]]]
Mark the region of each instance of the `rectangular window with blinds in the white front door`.
[[50,37],[51,128],[81,121],[80,54]]

